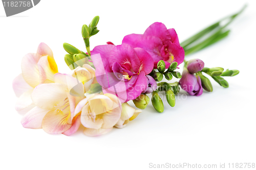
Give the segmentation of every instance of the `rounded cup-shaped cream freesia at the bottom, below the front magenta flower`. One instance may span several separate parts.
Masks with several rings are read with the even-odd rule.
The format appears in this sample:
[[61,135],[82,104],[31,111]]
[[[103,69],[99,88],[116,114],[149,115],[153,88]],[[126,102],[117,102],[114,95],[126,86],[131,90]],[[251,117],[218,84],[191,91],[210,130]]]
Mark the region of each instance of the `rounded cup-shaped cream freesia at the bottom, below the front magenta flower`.
[[75,108],[75,115],[81,114],[83,133],[98,136],[110,132],[120,119],[122,106],[116,95],[92,94],[81,100]]

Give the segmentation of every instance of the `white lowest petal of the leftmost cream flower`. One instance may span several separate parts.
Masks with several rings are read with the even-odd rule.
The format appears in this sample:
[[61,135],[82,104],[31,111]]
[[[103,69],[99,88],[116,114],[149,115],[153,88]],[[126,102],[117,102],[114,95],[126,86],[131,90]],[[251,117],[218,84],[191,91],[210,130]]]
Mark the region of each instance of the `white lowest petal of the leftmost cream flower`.
[[18,101],[15,105],[15,109],[17,111],[21,111],[21,110],[26,109],[27,107],[33,105],[33,102],[31,100],[32,92],[33,92],[33,89],[30,89],[19,96]]

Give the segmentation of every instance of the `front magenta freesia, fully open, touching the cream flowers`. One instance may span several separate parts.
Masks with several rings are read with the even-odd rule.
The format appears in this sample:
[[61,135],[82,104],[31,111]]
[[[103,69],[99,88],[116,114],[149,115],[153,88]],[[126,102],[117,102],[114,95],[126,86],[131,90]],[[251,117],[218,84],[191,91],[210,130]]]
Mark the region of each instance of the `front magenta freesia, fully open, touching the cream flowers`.
[[122,103],[136,99],[147,88],[145,75],[154,67],[150,54],[125,43],[96,46],[92,60],[103,93],[116,94]]

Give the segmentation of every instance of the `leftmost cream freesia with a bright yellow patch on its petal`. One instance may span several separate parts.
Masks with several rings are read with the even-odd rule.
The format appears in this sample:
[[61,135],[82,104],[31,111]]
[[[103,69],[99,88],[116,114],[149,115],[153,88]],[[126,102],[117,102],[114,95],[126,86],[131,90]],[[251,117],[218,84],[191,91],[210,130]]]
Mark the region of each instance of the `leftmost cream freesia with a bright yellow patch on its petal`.
[[22,74],[12,83],[13,90],[19,98],[15,109],[28,111],[35,105],[31,100],[33,89],[41,83],[53,82],[53,75],[58,72],[52,50],[45,43],[40,43],[36,53],[29,53],[22,59]]

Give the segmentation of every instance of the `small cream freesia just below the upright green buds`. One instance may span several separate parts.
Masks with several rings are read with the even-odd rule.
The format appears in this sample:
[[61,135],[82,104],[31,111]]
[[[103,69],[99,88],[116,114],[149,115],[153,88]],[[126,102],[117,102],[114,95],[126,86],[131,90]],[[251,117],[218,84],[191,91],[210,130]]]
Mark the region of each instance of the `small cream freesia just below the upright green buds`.
[[72,76],[84,84],[86,91],[90,90],[91,84],[97,83],[95,69],[89,64],[83,64],[82,67],[76,67],[73,70]]

